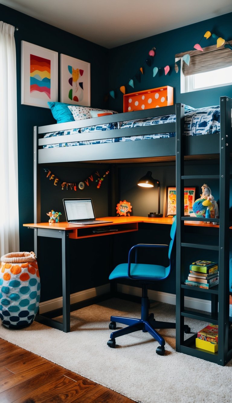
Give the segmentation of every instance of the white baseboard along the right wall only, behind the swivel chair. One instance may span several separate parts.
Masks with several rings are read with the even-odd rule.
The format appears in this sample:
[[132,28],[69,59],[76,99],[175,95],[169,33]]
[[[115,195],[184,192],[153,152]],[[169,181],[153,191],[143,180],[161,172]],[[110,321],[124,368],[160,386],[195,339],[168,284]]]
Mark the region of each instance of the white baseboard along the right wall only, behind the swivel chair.
[[[133,287],[130,285],[117,284],[117,291],[124,294],[135,295],[141,297],[142,291],[139,287]],[[148,297],[154,301],[166,302],[172,305],[176,305],[176,295],[163,293],[160,291],[148,290]],[[205,299],[184,297],[184,307],[193,308],[200,311],[211,312],[211,301]]]

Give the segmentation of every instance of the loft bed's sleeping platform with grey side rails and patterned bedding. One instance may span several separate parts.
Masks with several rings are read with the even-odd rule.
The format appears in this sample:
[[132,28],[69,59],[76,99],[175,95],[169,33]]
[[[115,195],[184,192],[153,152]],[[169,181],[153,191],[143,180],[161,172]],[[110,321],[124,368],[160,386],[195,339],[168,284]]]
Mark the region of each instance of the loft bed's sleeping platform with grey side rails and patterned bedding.
[[186,135],[185,155],[189,158],[218,154],[220,107],[194,110],[176,104],[35,127],[34,146],[39,164],[139,162],[143,158],[174,161],[176,131]]

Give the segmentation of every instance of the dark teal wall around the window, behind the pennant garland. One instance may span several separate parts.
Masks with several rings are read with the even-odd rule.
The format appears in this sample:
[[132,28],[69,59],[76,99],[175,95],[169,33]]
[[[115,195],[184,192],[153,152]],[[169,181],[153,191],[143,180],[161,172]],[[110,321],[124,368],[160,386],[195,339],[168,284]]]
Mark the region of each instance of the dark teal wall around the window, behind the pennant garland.
[[[170,85],[174,87],[174,103],[182,102],[194,108],[219,105],[220,96],[226,95],[232,97],[231,85],[181,94],[180,73],[176,73],[174,69],[166,76],[159,71],[153,78],[153,67],[164,67],[167,64],[173,65],[175,54],[193,50],[193,46],[201,40],[206,31],[222,36],[225,40],[231,40],[231,21],[232,13],[229,13],[111,49],[109,58],[109,90],[115,89],[116,97],[115,100],[111,97],[109,98],[110,108],[122,112],[123,94],[119,90],[121,85],[126,85],[127,93]],[[215,40],[212,37],[209,39],[203,38],[201,41],[202,47],[214,44]],[[134,78],[135,88],[133,89],[128,85],[128,81],[135,76],[140,66],[149,57],[148,52],[153,47],[156,48],[156,54],[152,59],[153,64],[149,67],[145,63],[141,82],[139,83]]]

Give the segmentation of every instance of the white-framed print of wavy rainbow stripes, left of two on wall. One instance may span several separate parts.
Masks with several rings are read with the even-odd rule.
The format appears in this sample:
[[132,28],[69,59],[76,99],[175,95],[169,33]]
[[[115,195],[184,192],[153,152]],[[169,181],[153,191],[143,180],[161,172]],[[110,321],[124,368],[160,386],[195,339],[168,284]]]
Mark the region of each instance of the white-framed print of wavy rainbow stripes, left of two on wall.
[[58,52],[21,41],[21,104],[58,101]]

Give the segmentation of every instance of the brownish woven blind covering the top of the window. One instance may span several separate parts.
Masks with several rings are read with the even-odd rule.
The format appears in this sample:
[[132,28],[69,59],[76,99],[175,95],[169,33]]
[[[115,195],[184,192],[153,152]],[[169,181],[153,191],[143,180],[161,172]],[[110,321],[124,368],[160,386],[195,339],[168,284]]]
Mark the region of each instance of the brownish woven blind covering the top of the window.
[[[232,41],[228,41],[232,45]],[[192,75],[197,73],[205,73],[207,71],[222,69],[224,67],[232,66],[232,50],[216,45],[207,46],[200,50],[189,50],[175,55],[176,58],[183,57],[185,54],[190,55],[190,63],[183,62],[184,75]]]

